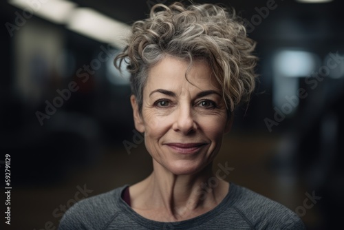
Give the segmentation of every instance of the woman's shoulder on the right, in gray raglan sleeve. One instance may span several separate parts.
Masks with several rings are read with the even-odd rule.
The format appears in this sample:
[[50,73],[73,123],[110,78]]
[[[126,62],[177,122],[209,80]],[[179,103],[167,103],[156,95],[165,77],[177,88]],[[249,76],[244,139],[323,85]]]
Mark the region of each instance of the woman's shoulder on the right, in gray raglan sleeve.
[[235,185],[237,202],[233,208],[254,229],[305,229],[294,211],[255,191]]

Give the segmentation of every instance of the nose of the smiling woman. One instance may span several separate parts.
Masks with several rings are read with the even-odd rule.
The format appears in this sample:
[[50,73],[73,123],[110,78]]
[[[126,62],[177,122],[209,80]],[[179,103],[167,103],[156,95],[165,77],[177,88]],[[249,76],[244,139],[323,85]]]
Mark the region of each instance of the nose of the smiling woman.
[[180,105],[175,112],[175,121],[173,123],[173,130],[181,132],[182,134],[191,134],[197,129],[195,123],[195,113],[190,105]]

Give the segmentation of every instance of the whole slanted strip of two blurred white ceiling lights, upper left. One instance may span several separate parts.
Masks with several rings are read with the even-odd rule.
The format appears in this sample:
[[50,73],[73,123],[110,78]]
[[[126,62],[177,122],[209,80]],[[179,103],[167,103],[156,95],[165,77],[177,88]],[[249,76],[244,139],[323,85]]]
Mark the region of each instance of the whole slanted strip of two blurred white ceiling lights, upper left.
[[67,0],[9,0],[8,2],[25,10],[27,14],[32,13],[54,23],[66,24],[69,30],[118,49],[124,47],[123,42],[131,33],[129,25],[91,8],[77,8],[76,3]]

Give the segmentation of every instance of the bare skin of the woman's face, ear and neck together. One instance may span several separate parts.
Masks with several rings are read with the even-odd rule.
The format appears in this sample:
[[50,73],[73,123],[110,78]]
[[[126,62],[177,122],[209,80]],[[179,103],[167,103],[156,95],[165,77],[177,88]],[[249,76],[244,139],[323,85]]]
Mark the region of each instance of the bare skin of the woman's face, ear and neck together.
[[194,61],[186,79],[188,67],[188,61],[164,57],[149,72],[141,112],[131,96],[135,127],[153,159],[152,174],[129,187],[131,207],[151,220],[199,216],[228,193],[224,180],[206,193],[200,186],[215,178],[213,159],[230,130],[222,91],[204,61]]

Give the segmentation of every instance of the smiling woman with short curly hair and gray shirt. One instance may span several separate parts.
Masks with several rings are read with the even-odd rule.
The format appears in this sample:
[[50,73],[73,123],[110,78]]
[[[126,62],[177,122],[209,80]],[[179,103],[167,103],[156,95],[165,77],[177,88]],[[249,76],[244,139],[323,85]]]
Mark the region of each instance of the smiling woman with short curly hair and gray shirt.
[[255,86],[255,42],[234,10],[158,4],[132,32],[115,63],[129,63],[153,172],[78,202],[59,229],[304,229],[286,207],[212,170],[235,107]]

